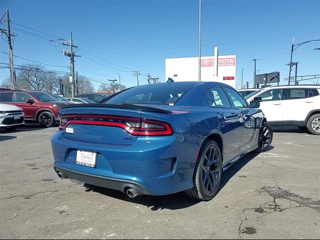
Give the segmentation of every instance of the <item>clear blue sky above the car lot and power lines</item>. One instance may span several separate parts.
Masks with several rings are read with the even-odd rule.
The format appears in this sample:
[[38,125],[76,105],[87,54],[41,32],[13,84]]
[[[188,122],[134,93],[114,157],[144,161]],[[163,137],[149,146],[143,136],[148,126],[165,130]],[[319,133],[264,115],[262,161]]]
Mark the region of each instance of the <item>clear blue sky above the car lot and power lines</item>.
[[[197,0],[1,0],[0,9],[1,16],[5,9],[9,9],[13,27],[27,31],[34,32],[14,23],[65,39],[69,38],[72,28],[74,44],[91,54],[198,45]],[[269,58],[256,61],[256,69],[260,70],[257,74],[280,71],[283,82],[283,77],[288,75],[285,64],[290,58],[292,35],[295,35],[295,43],[320,37],[319,12],[319,0],[202,0],[202,44],[212,44],[202,47],[202,55],[213,55],[215,44],[220,55],[236,54],[236,84],[240,83],[242,68],[243,81],[252,82],[253,58]],[[18,29],[11,31],[18,34],[14,40],[14,55],[49,64],[69,65],[69,60],[59,52],[63,48],[61,45],[53,47],[46,39]],[[220,44],[242,41],[253,42]],[[6,42],[2,39],[0,42],[0,50],[7,52]],[[320,74],[320,51],[313,49],[318,47],[320,41],[314,41],[293,51],[292,60],[299,62],[298,75]],[[150,71],[153,77],[164,81],[165,58],[197,56],[198,48],[95,55],[116,65],[88,55],[116,70],[91,61],[83,52],[77,53],[82,55],[76,57],[75,62],[79,74],[106,80],[118,79],[119,73],[121,83],[132,86],[136,84],[136,78],[130,69]],[[16,57],[13,60],[14,64],[27,62]],[[0,53],[0,62],[8,62],[6,54]],[[63,67],[46,68],[68,71]],[[1,79],[8,74],[8,69],[0,70]],[[145,76],[140,75],[139,81],[145,84]],[[96,88],[99,85],[93,84]]]

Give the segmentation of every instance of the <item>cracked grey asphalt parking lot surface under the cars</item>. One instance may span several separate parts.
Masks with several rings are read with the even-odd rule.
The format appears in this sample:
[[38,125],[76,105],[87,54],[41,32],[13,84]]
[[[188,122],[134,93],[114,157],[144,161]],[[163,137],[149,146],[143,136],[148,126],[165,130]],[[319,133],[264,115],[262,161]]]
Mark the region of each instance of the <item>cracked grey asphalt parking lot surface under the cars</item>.
[[272,147],[222,175],[213,200],[128,198],[59,179],[56,127],[0,133],[0,238],[305,238],[320,236],[320,136],[275,128]]

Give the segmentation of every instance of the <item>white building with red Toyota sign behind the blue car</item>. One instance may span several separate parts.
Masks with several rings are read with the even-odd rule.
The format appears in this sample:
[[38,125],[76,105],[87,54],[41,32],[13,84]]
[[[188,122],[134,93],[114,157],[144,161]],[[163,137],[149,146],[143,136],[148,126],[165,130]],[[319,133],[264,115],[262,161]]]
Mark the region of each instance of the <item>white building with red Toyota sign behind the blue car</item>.
[[[215,51],[217,55],[217,49]],[[198,57],[165,58],[165,79],[174,81],[198,80]],[[235,88],[236,55],[201,56],[201,81],[219,81]]]

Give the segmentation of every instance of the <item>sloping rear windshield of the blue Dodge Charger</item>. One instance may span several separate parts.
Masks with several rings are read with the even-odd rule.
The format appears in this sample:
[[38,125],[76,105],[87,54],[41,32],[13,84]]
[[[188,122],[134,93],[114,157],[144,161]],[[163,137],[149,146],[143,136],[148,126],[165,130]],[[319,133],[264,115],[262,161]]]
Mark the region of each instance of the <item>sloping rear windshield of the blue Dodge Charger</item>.
[[175,103],[194,85],[191,82],[175,82],[132,87],[111,96],[104,103],[170,104]]

